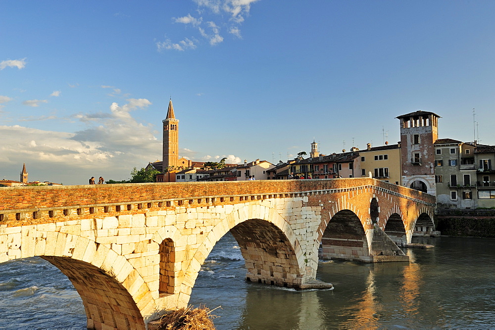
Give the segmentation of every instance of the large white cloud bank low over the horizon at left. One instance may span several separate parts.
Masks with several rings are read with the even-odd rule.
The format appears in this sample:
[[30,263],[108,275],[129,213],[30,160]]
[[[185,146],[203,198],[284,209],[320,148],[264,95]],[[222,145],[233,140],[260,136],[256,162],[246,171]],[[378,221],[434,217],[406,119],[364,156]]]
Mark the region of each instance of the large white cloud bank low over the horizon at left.
[[152,125],[130,115],[150,104],[146,98],[130,98],[122,105],[112,103],[104,112],[78,114],[73,118],[86,128],[75,133],[0,126],[5,173],[13,173],[15,180],[17,167],[26,162],[29,180],[87,184],[91,176],[127,179],[133,167],[161,158],[162,143],[153,136]]

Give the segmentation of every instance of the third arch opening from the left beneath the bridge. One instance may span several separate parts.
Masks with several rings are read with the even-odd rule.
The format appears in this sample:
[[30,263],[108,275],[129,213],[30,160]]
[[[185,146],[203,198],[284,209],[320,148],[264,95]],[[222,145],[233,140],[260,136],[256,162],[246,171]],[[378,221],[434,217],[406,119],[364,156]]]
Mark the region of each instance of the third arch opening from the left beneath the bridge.
[[370,261],[368,240],[363,225],[354,212],[337,212],[321,238],[323,259]]

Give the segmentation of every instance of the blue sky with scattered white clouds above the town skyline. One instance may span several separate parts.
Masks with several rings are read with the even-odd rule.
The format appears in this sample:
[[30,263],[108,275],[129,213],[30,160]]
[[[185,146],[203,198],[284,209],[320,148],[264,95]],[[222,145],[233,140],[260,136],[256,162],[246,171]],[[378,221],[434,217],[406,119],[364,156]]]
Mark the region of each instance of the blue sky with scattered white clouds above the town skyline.
[[416,110],[495,144],[493,0],[0,6],[0,179],[128,179],[161,159],[170,97],[196,161],[393,144]]

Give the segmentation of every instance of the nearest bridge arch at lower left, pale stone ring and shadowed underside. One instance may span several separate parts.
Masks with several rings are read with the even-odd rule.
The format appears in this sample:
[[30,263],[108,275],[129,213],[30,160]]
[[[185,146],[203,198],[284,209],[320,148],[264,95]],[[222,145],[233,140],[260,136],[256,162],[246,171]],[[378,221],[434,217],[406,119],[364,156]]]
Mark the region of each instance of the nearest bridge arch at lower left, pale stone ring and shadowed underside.
[[142,310],[154,309],[148,285],[124,256],[87,237],[22,231],[20,257],[56,266],[81,296],[88,329],[145,329]]

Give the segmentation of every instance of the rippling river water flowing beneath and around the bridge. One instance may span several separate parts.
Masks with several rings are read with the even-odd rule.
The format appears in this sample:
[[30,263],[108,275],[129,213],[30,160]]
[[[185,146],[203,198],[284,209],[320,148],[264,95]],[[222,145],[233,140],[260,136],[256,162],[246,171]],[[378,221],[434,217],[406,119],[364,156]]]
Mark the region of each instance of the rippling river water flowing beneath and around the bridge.
[[[418,238],[411,262],[320,261],[333,290],[296,291],[244,281],[227,234],[201,268],[190,303],[216,309],[217,329],[493,328],[495,239]],[[0,264],[0,328],[86,328],[78,293],[41,258]]]

